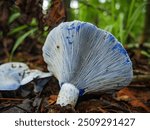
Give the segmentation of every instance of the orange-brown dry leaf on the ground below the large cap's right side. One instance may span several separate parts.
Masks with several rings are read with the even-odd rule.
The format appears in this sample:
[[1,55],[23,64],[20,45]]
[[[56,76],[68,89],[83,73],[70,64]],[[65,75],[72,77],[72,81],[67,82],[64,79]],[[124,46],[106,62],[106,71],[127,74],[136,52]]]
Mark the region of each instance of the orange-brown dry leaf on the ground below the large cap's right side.
[[147,112],[150,112],[150,109],[142,102],[142,99],[138,98],[138,95],[139,92],[126,87],[117,93],[116,99],[118,101],[128,101],[133,107],[141,107]]

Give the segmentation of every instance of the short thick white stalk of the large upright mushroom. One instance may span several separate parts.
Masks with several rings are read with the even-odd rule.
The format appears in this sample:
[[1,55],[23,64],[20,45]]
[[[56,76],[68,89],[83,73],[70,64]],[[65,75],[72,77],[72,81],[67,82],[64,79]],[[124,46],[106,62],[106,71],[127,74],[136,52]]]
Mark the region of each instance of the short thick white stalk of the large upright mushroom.
[[74,107],[76,105],[78,97],[79,90],[73,84],[64,83],[58,94],[56,104],[60,104],[61,106],[71,104]]

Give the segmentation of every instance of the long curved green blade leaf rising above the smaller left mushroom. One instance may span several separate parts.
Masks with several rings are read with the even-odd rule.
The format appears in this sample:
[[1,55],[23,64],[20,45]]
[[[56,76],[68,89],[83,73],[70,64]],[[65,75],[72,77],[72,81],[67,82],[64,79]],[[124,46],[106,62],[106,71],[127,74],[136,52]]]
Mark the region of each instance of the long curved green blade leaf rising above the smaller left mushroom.
[[31,35],[32,33],[34,33],[37,30],[37,28],[34,28],[32,30],[29,30],[28,32],[24,33],[22,36],[20,36],[17,41],[15,42],[13,49],[11,51],[10,54],[10,60],[12,60],[12,56],[14,54],[14,52],[16,51],[16,49],[21,45],[21,43],[25,40],[26,37],[28,37],[29,35]]

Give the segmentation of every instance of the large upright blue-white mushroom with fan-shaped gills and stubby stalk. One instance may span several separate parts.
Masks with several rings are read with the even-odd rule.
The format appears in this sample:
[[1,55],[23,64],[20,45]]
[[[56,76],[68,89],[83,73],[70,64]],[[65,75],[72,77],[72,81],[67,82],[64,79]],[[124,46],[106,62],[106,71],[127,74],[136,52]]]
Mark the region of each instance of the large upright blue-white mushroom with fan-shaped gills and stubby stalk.
[[47,36],[43,57],[61,87],[57,104],[76,105],[79,96],[119,90],[133,77],[132,62],[109,32],[81,21],[64,22]]

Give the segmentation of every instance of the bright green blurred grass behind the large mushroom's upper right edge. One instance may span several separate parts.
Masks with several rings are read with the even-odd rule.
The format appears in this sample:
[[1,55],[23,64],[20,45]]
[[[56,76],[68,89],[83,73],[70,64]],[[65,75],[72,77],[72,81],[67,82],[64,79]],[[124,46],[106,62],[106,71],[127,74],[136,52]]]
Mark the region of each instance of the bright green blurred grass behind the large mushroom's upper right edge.
[[[144,23],[145,1],[79,0],[75,18],[91,22],[114,34],[123,44],[137,42]],[[128,40],[130,38],[130,41]]]

